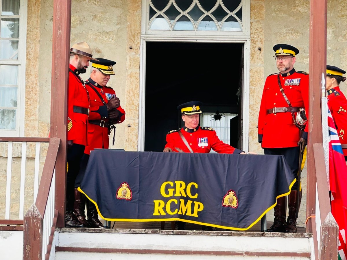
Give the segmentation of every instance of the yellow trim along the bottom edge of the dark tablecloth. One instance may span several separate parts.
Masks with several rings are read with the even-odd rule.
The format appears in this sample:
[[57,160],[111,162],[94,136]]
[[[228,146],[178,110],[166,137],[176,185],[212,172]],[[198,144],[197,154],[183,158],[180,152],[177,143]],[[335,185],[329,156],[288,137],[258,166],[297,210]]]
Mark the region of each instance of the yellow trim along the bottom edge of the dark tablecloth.
[[246,228],[238,228],[238,227],[227,227],[227,226],[219,226],[219,225],[214,225],[214,224],[210,224],[210,223],[203,223],[203,222],[199,222],[199,221],[194,221],[194,220],[187,220],[187,219],[181,219],[181,218],[154,218],[154,219],[128,219],[128,218],[105,218],[101,215],[98,204],[96,204],[95,201],[93,201],[91,198],[88,197],[87,194],[85,194],[80,187],[77,188],[78,191],[82,192],[84,195],[86,195],[86,197],[94,203],[96,210],[98,210],[99,216],[107,221],[127,221],[127,222],[149,222],[149,221],[183,221],[183,222],[187,222],[187,223],[193,223],[193,224],[198,224],[198,225],[205,225],[205,226],[210,226],[210,227],[218,227],[218,228],[225,228],[225,229],[232,229],[232,230],[239,230],[239,231],[244,231],[247,230],[251,227],[253,227],[256,223],[258,223],[259,220],[261,220],[261,218],[268,213],[272,208],[274,208],[277,204],[277,199],[287,196],[290,191],[291,191],[291,187],[293,187],[294,183],[296,182],[296,179],[293,180],[293,182],[291,182],[291,184],[289,185],[289,191],[287,193],[278,195],[276,197],[276,202],[275,204],[273,204],[272,206],[270,206],[268,209],[266,209],[259,218],[257,218],[251,225],[249,225]]

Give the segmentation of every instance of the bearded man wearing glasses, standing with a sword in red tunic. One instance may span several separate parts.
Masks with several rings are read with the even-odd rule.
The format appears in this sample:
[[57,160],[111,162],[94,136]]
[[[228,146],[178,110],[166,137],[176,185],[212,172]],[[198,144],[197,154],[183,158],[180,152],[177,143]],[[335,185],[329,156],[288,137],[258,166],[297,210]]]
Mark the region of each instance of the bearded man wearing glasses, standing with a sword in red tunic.
[[[259,143],[265,154],[283,155],[297,178],[299,155],[307,144],[308,124],[300,125],[304,129],[301,131],[297,122],[302,119],[301,116],[307,120],[308,73],[294,69],[295,56],[299,53],[297,48],[276,44],[273,50],[279,73],[271,74],[265,81],[258,119]],[[296,233],[296,212],[301,201],[301,191],[298,190],[298,182],[295,182],[288,196],[287,221],[287,198],[277,199],[274,222],[269,232]]]

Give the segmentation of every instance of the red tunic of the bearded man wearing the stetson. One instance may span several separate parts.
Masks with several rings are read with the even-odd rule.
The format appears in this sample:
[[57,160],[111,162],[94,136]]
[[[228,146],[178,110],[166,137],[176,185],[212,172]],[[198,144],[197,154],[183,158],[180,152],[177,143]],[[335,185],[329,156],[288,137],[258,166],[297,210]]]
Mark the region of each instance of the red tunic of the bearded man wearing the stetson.
[[77,69],[70,64],[67,102],[67,140],[87,145],[87,120],[89,111],[88,91]]

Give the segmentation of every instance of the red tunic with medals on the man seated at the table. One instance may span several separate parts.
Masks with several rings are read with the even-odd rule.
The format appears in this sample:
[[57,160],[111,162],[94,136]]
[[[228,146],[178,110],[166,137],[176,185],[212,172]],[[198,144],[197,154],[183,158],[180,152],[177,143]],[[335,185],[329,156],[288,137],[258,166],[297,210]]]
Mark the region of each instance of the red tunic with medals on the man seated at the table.
[[188,144],[195,153],[209,153],[211,149],[218,153],[241,153],[239,149],[235,149],[229,144],[219,140],[216,132],[211,127],[196,127],[189,129],[187,127],[179,130],[172,130],[166,135],[165,148],[170,147],[172,151],[178,152],[176,148],[189,153],[188,147],[184,144],[182,138],[178,134],[180,131],[186,138]]

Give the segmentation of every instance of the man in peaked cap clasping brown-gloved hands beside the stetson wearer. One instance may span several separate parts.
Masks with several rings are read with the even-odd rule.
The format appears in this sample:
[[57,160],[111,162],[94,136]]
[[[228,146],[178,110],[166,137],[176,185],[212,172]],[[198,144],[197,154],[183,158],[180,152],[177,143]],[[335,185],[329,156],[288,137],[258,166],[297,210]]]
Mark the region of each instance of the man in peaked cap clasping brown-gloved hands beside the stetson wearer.
[[[90,78],[85,82],[90,97],[90,113],[88,118],[88,145],[85,147],[81,160],[81,168],[75,182],[75,206],[74,213],[77,219],[87,227],[103,228],[99,221],[98,211],[89,200],[86,201],[84,194],[79,192],[79,187],[89,159],[90,151],[95,148],[109,148],[110,129],[113,129],[113,141],[115,134],[114,124],[120,124],[125,120],[125,111],[120,107],[120,100],[115,91],[106,86],[110,75],[115,75],[113,65],[116,62],[103,58],[93,61]],[[87,202],[87,218],[84,214]]]

